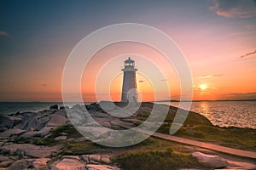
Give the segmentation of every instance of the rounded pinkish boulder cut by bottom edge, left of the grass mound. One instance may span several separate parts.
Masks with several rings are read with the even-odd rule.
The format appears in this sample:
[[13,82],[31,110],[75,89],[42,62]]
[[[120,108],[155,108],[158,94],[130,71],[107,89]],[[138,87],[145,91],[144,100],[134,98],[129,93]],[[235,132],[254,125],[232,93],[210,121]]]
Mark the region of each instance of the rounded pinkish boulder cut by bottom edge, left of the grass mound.
[[76,159],[64,158],[60,162],[56,163],[52,170],[85,170],[85,164]]

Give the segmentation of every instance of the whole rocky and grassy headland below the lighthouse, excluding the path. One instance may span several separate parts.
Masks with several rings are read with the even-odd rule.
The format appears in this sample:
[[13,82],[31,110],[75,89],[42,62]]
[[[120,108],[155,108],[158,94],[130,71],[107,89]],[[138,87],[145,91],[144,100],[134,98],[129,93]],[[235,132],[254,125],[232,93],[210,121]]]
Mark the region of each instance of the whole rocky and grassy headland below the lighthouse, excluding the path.
[[[138,126],[147,119],[152,105],[143,103],[134,115],[121,119],[113,119],[97,104],[86,105],[86,108],[103,127],[121,130]],[[74,105],[68,110],[76,114],[81,111],[81,105]],[[170,106],[166,121],[158,133],[169,133],[176,111],[177,108]],[[219,155],[214,150],[154,137],[129,147],[112,148],[95,144],[73,127],[66,110],[58,105],[52,105],[44,111],[18,112],[12,116],[0,117],[0,166],[8,169],[255,168],[253,160],[248,158]],[[86,120],[79,120],[79,123],[83,122]],[[85,123],[84,126],[90,125]],[[101,128],[93,126],[90,133],[97,136],[100,131]],[[253,129],[214,127],[204,116],[190,112],[176,135],[185,139],[255,151],[254,133]],[[106,137],[111,138],[109,135]],[[159,164],[153,163],[155,161]]]

